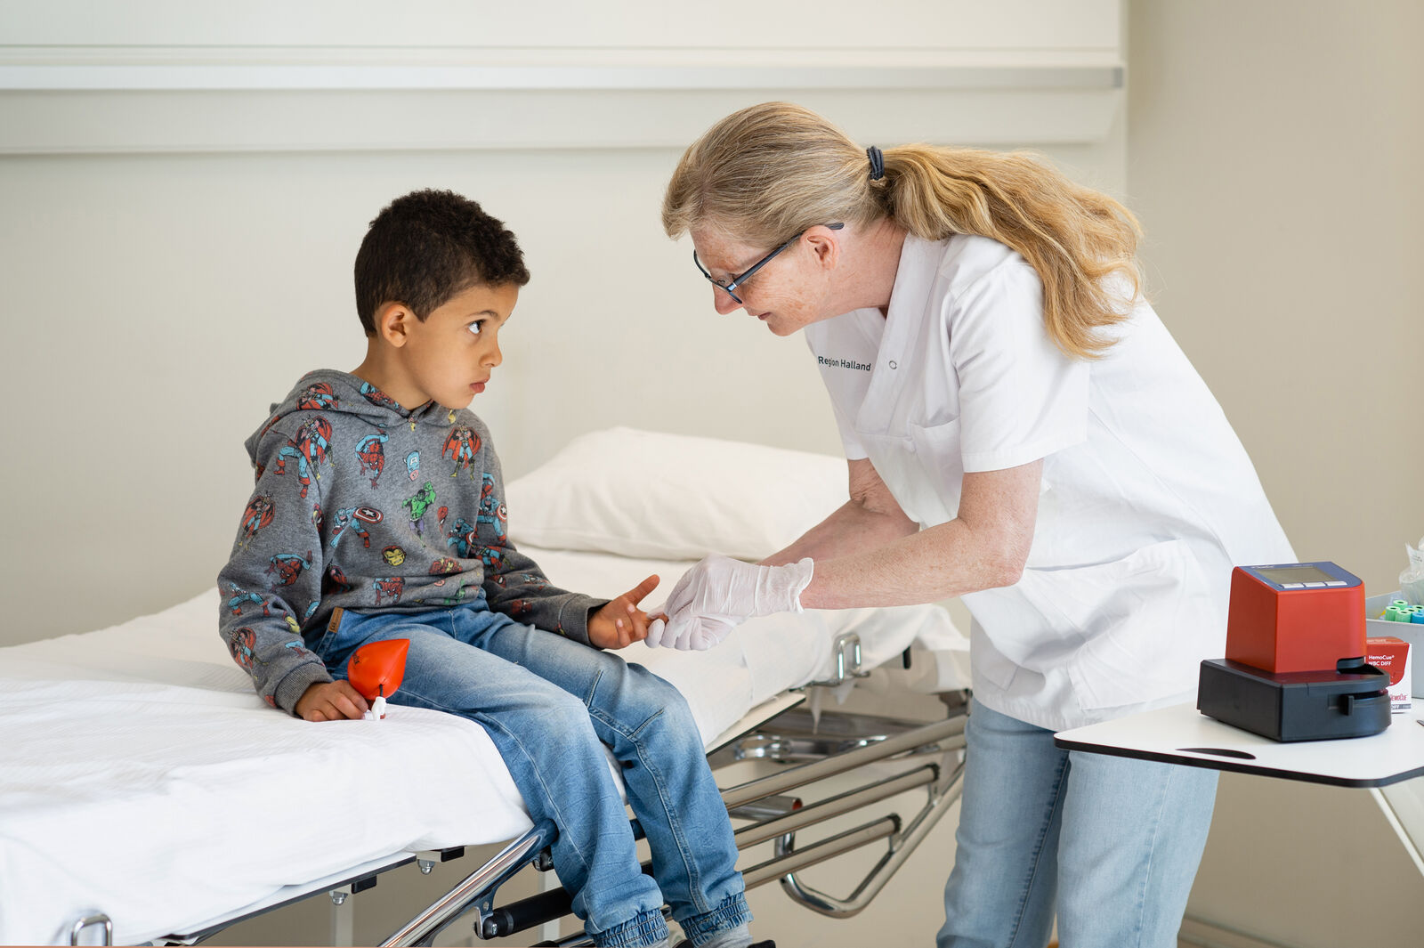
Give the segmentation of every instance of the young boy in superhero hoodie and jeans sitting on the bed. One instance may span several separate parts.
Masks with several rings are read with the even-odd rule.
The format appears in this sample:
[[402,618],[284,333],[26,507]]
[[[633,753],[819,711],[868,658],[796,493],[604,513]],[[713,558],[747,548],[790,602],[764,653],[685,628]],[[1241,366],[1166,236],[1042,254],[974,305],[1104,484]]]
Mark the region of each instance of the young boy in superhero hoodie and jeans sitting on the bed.
[[527,282],[514,235],[473,201],[419,191],[380,212],[356,255],[365,362],[303,376],[246,441],[256,490],[218,576],[219,631],[262,697],[310,722],[360,717],[349,656],[409,639],[392,703],[488,732],[530,816],[558,827],[554,867],[595,945],[665,945],[664,900],[693,945],[748,945],[732,828],[686,703],[600,651],[646,636],[638,604],[658,578],[594,599],[551,586],[508,541],[500,461],[467,406]]

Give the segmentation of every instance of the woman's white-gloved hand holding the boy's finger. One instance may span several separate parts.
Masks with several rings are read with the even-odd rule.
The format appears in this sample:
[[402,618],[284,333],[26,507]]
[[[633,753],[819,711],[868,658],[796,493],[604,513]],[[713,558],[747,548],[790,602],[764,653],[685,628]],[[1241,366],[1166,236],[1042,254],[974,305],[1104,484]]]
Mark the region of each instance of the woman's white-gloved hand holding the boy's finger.
[[649,646],[709,649],[752,616],[800,612],[800,594],[813,571],[810,557],[785,567],[706,557],[672,588],[662,606],[666,623],[649,625],[645,641]]

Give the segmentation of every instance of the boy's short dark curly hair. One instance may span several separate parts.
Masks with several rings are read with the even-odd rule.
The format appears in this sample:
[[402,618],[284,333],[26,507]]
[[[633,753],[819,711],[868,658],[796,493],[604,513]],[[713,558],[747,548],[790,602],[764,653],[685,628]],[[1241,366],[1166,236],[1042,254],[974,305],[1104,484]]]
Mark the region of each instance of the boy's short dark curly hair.
[[524,253],[503,222],[453,191],[413,191],[376,215],[360,242],[356,315],[375,336],[384,303],[404,303],[423,320],[478,283],[528,282]]

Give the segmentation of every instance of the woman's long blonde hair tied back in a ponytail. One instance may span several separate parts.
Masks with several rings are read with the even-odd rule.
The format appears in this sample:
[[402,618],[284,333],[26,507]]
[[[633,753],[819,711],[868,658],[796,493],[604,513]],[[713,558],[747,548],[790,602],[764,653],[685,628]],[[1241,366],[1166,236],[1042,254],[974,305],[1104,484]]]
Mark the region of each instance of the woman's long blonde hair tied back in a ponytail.
[[864,149],[816,112],[765,102],[686,149],[662,226],[676,238],[711,225],[759,246],[816,223],[884,218],[928,241],[993,238],[1038,273],[1044,325],[1062,352],[1096,359],[1112,346],[1099,330],[1126,319],[1141,292],[1131,211],[1024,152],[906,145],[884,149],[884,172],[871,181]]

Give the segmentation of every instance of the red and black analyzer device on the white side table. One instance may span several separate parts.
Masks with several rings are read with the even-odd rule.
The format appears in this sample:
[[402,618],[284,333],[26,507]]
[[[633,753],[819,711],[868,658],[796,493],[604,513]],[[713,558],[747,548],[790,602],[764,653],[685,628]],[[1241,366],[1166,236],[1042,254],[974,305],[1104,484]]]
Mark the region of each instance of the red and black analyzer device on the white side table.
[[1236,567],[1226,658],[1206,659],[1196,707],[1272,740],[1363,737],[1390,726],[1390,676],[1364,660],[1364,584],[1333,562]]

